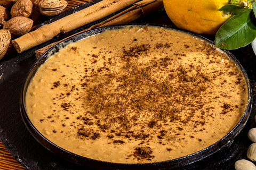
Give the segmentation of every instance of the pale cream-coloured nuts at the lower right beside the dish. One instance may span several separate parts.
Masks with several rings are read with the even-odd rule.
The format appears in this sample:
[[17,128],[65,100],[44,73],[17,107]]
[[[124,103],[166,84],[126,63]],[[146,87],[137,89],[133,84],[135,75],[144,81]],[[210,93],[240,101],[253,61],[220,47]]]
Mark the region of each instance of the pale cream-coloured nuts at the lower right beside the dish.
[[[256,116],[254,117],[256,122]],[[253,142],[252,145],[247,150],[247,158],[256,162],[256,128],[249,130],[247,134],[248,138]],[[256,166],[246,159],[237,160],[235,163],[236,170],[256,170]]]

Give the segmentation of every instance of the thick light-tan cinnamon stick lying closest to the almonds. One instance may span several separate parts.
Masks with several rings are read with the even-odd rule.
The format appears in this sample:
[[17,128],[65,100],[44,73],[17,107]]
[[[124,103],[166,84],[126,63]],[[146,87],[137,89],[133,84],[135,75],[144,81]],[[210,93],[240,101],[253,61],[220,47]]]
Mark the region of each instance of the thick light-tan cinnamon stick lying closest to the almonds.
[[27,49],[51,40],[55,36],[100,20],[138,1],[140,0],[103,0],[14,39],[12,40],[12,45],[18,53],[24,52]]

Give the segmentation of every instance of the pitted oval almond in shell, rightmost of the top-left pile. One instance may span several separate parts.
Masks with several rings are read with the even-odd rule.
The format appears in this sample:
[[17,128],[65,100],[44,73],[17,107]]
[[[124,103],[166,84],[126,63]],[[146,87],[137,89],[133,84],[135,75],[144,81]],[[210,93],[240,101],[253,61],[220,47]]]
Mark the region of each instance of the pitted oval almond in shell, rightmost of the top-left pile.
[[68,5],[65,0],[36,0],[34,7],[36,11],[45,16],[54,16]]

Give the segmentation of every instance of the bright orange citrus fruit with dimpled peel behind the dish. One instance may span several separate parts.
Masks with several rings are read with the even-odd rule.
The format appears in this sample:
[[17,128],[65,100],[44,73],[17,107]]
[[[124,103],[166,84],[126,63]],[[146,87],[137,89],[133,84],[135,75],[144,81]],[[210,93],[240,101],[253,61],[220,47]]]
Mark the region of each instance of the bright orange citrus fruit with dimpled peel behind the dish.
[[204,35],[214,35],[230,14],[218,11],[230,0],[163,0],[172,22],[181,29]]

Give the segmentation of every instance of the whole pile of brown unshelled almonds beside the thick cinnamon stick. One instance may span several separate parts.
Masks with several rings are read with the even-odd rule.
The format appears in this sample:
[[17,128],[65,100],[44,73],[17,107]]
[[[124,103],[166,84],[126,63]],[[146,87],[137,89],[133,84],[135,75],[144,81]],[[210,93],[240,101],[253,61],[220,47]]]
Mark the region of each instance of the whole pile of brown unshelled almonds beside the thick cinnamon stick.
[[11,39],[28,33],[34,21],[29,19],[34,9],[42,15],[54,16],[68,5],[65,0],[0,0],[0,60]]

